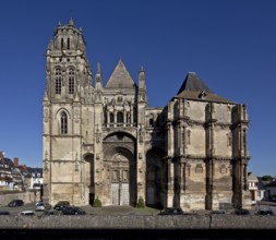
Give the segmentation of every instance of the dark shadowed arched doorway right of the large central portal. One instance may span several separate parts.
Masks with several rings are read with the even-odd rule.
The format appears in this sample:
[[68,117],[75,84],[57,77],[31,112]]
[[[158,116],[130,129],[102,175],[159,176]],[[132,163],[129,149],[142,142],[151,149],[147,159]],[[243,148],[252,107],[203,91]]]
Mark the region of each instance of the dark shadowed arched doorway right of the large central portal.
[[154,147],[146,154],[146,205],[161,208],[165,196],[164,151]]

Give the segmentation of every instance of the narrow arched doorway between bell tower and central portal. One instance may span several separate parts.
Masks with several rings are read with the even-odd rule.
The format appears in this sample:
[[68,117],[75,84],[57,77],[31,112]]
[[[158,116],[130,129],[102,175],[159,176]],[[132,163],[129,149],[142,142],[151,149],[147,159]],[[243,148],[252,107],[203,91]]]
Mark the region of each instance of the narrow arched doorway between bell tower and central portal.
[[85,182],[88,188],[88,203],[93,205],[95,200],[94,155],[85,155],[84,160],[86,161]]

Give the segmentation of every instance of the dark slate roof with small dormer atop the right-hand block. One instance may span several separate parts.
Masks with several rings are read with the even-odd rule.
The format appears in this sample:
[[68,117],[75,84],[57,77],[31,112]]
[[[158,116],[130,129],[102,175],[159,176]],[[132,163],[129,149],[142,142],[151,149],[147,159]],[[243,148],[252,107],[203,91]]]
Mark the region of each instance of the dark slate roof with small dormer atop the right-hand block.
[[177,97],[219,103],[232,103],[213,93],[194,72],[189,72]]

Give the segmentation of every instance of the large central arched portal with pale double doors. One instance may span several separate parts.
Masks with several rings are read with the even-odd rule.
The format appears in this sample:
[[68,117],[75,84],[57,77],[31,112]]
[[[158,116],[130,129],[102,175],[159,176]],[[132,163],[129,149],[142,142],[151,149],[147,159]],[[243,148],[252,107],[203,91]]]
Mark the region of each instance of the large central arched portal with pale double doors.
[[136,163],[134,140],[127,133],[115,133],[104,141],[105,165],[109,179],[107,197],[111,205],[133,205],[136,199]]

